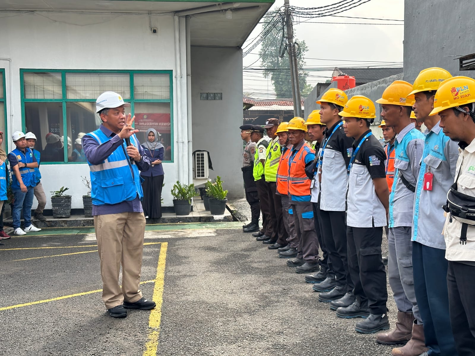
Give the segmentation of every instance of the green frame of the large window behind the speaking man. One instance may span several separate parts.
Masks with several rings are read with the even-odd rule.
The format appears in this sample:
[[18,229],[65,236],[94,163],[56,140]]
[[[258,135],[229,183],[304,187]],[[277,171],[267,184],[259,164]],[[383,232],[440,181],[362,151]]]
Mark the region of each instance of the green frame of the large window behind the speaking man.
[[[1,70],[1,69],[0,69]],[[61,75],[61,84],[62,84],[62,97],[57,99],[27,99],[25,98],[25,82],[24,74],[25,73],[58,73]],[[20,68],[20,98],[21,98],[21,127],[23,132],[26,128],[26,114],[25,114],[25,103],[62,103],[62,113],[63,113],[63,136],[67,137],[67,114],[66,114],[66,104],[67,103],[85,103],[92,102],[95,103],[95,99],[68,99],[66,93],[66,74],[77,74],[77,73],[99,73],[99,74],[129,74],[130,76],[130,99],[125,99],[124,102],[130,103],[130,112],[135,113],[135,104],[138,103],[169,103],[170,105],[170,159],[164,160],[165,163],[171,163],[174,160],[174,132],[173,132],[173,71],[171,70],[86,70],[86,69],[31,69],[31,68]],[[133,84],[133,75],[134,74],[168,74],[170,81],[170,99],[135,99],[134,98],[134,84]],[[5,82],[5,75],[3,75],[3,81]],[[119,93],[120,94],[120,93]],[[0,101],[2,99],[0,98]],[[6,105],[5,105],[6,107]],[[5,119],[6,119],[6,109],[5,109]],[[135,126],[135,125],[134,125]],[[6,125],[5,125],[6,127]],[[141,142],[143,143],[143,142]],[[67,144],[64,145],[64,162],[41,162],[41,164],[84,164],[85,162],[68,162],[68,151]]]

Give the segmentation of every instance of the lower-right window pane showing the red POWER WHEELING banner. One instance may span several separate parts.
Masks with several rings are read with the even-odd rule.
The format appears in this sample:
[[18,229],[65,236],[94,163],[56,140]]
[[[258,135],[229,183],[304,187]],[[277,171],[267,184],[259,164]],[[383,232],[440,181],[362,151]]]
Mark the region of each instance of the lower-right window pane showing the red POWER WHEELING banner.
[[135,128],[140,143],[145,142],[146,131],[155,129],[165,148],[163,160],[171,160],[171,115],[170,103],[135,103]]

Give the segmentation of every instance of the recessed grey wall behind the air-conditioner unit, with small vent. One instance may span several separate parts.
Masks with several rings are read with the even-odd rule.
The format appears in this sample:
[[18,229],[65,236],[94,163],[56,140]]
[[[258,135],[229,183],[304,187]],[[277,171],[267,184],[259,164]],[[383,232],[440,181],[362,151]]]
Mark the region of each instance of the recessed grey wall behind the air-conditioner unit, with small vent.
[[[223,93],[223,100],[199,100],[200,93]],[[191,47],[193,151],[209,151],[228,197],[243,197],[242,50]]]

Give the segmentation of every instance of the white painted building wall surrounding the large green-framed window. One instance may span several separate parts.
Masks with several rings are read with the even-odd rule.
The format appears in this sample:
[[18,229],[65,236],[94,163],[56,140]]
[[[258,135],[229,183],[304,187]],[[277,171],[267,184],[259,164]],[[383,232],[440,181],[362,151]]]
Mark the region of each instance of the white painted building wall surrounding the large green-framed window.
[[[24,13],[21,15],[11,13],[11,15],[15,15],[12,17],[8,17],[8,15],[9,13],[2,13],[0,21],[0,58],[11,59],[11,73],[8,60],[0,60],[0,67],[6,70],[7,126],[10,135],[13,131],[22,129],[20,68],[142,69],[173,70],[175,73],[173,16],[152,16],[152,27],[158,28],[158,33],[152,34],[149,29],[148,15],[86,15],[84,13],[54,12],[42,12],[41,14]],[[184,48],[184,19],[180,19],[180,40],[182,41],[182,48]],[[234,50],[234,52],[237,53],[239,51]],[[181,50],[181,57],[183,66],[186,63],[183,50]],[[207,58],[203,59],[207,60]],[[237,59],[234,59],[234,61],[236,62]],[[10,75],[11,88],[9,87]],[[241,79],[239,79],[239,84],[237,85],[241,87],[239,95],[242,95]],[[163,189],[165,206],[172,205],[170,190],[178,178],[177,165],[182,164],[185,172],[188,171],[187,162],[180,160],[177,154],[178,145],[176,140],[179,118],[177,117],[176,87],[174,74],[173,125],[175,163],[163,164],[165,171],[164,181],[166,184]],[[10,95],[12,95],[12,105],[10,105]],[[231,95],[228,97],[231,97]],[[182,112],[182,115],[184,115],[186,120],[186,95],[183,100],[185,101],[185,110]],[[238,104],[240,105],[240,103]],[[238,113],[238,116],[240,115]],[[199,137],[199,135],[197,136]],[[10,137],[8,142],[9,150],[11,150],[14,146]],[[185,143],[185,152],[186,145],[187,143]],[[236,146],[238,146],[237,141]],[[217,154],[213,156],[216,159],[218,158]],[[85,194],[86,188],[82,185],[80,176],[89,175],[87,164],[41,165],[41,174],[43,177],[41,181],[48,197],[47,209],[51,208],[49,191],[57,190],[61,186],[69,187],[68,193],[73,197],[72,207],[82,208],[82,195]],[[34,206],[35,204],[36,202],[34,202]]]

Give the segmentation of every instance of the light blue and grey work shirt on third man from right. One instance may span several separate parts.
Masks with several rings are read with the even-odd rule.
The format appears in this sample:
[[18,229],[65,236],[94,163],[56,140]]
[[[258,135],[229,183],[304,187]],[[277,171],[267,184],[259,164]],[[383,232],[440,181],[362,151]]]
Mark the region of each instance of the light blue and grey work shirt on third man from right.
[[419,162],[424,149],[424,134],[411,122],[394,140],[394,182],[389,196],[389,227],[411,226],[414,212],[414,192],[409,190],[399,175],[416,187]]

